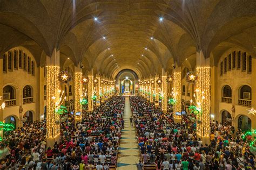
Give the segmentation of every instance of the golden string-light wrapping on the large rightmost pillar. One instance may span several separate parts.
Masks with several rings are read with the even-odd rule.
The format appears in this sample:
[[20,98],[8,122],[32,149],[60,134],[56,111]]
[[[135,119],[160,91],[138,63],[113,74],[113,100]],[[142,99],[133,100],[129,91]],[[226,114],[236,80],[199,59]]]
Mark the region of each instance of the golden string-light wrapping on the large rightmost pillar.
[[197,75],[197,108],[201,109],[201,113],[197,115],[197,134],[200,137],[208,137],[210,135],[210,67],[197,67]]

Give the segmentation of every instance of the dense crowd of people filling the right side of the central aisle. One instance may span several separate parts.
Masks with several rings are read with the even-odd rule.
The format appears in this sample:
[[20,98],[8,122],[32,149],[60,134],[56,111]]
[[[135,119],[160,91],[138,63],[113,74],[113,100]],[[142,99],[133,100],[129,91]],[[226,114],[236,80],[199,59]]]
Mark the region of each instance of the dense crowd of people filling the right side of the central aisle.
[[141,96],[131,96],[130,104],[138,135],[142,165],[156,169],[255,169],[249,143],[252,137],[234,127],[211,122],[210,144],[197,138],[194,116],[184,115],[174,123],[172,114],[163,114]]

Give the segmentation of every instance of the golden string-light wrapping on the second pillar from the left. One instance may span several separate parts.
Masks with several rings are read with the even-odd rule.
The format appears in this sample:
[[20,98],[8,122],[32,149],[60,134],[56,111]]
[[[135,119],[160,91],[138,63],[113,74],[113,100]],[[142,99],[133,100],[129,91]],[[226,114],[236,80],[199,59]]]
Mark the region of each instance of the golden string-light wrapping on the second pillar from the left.
[[83,93],[82,93],[82,73],[77,72],[75,73],[75,113],[80,112],[81,114],[76,116],[76,119],[82,119],[82,104],[80,103],[80,100],[83,98]]

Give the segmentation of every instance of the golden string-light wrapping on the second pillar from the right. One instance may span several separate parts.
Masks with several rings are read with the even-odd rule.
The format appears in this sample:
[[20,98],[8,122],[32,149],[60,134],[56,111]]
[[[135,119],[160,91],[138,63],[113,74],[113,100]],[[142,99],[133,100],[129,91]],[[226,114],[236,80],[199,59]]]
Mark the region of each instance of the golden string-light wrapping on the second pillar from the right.
[[173,105],[173,117],[181,119],[181,116],[176,115],[176,112],[181,112],[181,72],[173,73],[173,98],[176,103]]

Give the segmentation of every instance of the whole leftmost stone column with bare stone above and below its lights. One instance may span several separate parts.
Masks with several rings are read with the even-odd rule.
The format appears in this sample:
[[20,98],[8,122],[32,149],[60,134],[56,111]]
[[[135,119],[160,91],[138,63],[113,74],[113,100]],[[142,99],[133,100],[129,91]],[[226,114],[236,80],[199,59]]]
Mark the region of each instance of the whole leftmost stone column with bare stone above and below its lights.
[[56,114],[56,102],[59,102],[59,51],[53,50],[51,56],[46,56],[46,145],[53,146],[59,142],[59,114]]

